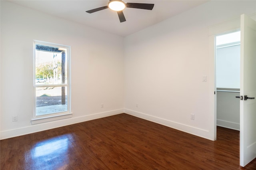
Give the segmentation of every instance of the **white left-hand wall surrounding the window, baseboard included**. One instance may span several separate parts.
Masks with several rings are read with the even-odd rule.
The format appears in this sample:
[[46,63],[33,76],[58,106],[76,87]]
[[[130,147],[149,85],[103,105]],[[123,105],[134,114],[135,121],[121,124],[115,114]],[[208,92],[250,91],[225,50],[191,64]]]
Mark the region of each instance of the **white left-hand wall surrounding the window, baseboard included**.
[[[1,139],[124,112],[122,37],[11,2],[0,3]],[[33,40],[71,46],[71,119],[30,123]],[[17,122],[12,122],[12,115],[18,115]]]

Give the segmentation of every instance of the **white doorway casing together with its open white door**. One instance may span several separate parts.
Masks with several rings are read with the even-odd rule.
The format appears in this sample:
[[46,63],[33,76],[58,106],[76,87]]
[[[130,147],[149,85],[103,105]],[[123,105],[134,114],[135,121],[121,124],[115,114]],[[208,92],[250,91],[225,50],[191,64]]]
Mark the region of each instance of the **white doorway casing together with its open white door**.
[[[209,44],[212,63],[210,63],[210,109],[214,117],[212,135],[216,140],[216,35],[230,30],[241,30],[241,53],[240,53],[240,166],[245,166],[256,158],[256,20],[255,14],[246,16],[242,14],[239,20],[233,20],[209,28]],[[223,35],[223,34],[222,34]],[[214,44],[213,44],[214,43]],[[248,100],[250,99],[250,100]]]

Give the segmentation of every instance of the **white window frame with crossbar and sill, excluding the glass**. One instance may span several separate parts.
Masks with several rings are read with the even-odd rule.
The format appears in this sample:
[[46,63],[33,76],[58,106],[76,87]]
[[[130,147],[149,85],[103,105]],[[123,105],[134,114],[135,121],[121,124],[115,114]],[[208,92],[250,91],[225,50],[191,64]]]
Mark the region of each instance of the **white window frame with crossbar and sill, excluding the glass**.
[[[56,47],[56,48],[65,48],[67,49],[66,51],[66,62],[67,62],[67,81],[65,84],[36,84],[36,44],[39,45],[45,45],[45,46],[50,46],[50,47]],[[38,40],[34,40],[33,43],[33,82],[34,82],[34,113],[33,113],[33,118],[31,119],[31,124],[38,124],[38,123],[45,123],[49,121],[55,121],[55,120],[60,120],[60,119],[66,119],[72,117],[71,113],[71,69],[70,69],[70,56],[71,56],[71,50],[70,46],[68,45],[60,45],[56,43],[49,43],[49,42],[42,42]],[[67,111],[65,112],[58,112],[58,113],[51,113],[47,115],[36,115],[36,88],[37,87],[66,87],[67,88]]]

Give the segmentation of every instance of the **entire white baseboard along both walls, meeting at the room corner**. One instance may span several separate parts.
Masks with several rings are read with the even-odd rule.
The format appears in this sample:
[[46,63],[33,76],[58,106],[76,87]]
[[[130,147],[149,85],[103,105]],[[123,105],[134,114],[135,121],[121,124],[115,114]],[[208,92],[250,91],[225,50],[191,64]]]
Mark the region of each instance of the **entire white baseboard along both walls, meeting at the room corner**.
[[170,121],[170,120],[167,120],[167,119],[162,119],[162,118],[155,117],[155,116],[152,116],[152,115],[148,115],[148,114],[145,114],[145,113],[132,111],[132,110],[129,110],[129,109],[118,109],[118,110],[114,110],[114,111],[108,111],[108,112],[103,112],[103,113],[95,113],[95,114],[86,115],[86,116],[82,116],[82,117],[61,119],[61,120],[58,120],[58,121],[52,121],[52,122],[47,122],[47,123],[31,125],[31,126],[28,126],[28,127],[6,130],[6,131],[0,132],[0,140],[6,139],[6,138],[12,138],[12,137],[16,137],[16,136],[22,136],[22,135],[25,135],[25,134],[31,134],[31,133],[34,133],[34,132],[49,130],[49,129],[52,129],[52,128],[64,127],[64,126],[68,126],[68,125],[72,125],[72,124],[76,124],[76,123],[81,123],[81,122],[85,122],[85,121],[90,121],[90,120],[94,120],[94,119],[100,119],[100,118],[108,117],[108,116],[112,116],[112,115],[118,115],[120,113],[126,113],[126,114],[129,114],[129,115],[135,116],[135,117],[139,117],[141,119],[145,119],[145,120],[148,120],[148,121],[151,121],[151,122],[154,122],[154,123],[158,123],[160,125],[164,125],[166,127],[174,128],[174,129],[177,129],[177,130],[189,133],[189,134],[193,134],[193,135],[196,135],[196,136],[200,136],[202,138],[209,139],[209,140],[214,140],[214,139],[208,137],[208,136],[210,136],[208,130],[204,130],[204,129],[201,129],[201,128],[196,128],[196,127],[184,125],[184,124],[181,124],[181,123],[177,123],[177,122]]

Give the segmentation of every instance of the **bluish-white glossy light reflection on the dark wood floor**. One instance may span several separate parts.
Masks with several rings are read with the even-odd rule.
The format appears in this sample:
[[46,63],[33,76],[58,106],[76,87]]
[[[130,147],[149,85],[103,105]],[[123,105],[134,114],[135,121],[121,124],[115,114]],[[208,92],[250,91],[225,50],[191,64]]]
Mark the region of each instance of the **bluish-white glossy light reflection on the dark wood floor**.
[[26,163],[30,164],[30,168],[40,168],[40,170],[47,166],[52,169],[65,167],[69,160],[68,152],[72,147],[70,140],[72,134],[65,134],[36,143],[27,155],[32,162]]

